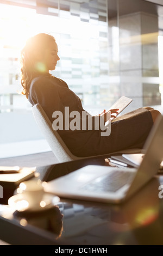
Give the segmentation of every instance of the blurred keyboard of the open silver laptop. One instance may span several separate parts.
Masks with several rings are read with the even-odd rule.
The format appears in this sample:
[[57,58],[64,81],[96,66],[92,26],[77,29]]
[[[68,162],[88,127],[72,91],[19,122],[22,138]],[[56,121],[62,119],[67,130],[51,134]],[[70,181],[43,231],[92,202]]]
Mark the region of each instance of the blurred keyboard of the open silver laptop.
[[135,173],[118,171],[96,178],[82,187],[89,191],[115,192],[133,180]]

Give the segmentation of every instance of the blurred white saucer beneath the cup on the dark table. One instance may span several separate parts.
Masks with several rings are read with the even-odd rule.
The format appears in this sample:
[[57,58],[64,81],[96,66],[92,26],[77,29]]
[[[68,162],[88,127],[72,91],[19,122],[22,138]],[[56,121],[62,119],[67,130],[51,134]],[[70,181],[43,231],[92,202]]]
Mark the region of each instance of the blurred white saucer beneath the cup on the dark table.
[[60,198],[57,196],[53,196],[51,194],[45,193],[43,194],[42,200],[40,203],[36,203],[35,205],[31,205],[30,202],[24,198],[23,193],[16,194],[12,196],[8,200],[8,204],[10,207],[14,208],[18,212],[36,212],[36,211],[44,211],[54,207],[60,201]]

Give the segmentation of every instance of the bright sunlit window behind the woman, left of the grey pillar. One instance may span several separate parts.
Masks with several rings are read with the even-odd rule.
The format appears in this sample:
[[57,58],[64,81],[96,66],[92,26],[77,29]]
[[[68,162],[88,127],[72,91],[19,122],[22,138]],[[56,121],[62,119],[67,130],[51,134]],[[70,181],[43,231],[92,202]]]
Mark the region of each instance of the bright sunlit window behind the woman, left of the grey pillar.
[[54,75],[64,79],[85,105],[101,105],[100,90],[108,84],[106,1],[84,2],[1,4],[1,112],[30,107],[17,93],[21,90],[19,57],[29,36],[40,32],[51,33],[58,43],[61,60]]

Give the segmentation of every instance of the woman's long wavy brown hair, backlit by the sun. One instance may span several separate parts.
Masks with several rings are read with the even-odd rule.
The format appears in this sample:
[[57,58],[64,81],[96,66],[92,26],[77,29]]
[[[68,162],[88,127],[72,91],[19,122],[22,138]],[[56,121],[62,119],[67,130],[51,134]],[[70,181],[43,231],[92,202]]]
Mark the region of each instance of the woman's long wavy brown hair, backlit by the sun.
[[30,83],[33,78],[39,76],[45,70],[43,63],[39,62],[37,56],[41,56],[49,47],[49,43],[55,41],[52,35],[40,33],[29,38],[26,45],[21,51],[21,84],[23,87],[22,94],[28,99]]

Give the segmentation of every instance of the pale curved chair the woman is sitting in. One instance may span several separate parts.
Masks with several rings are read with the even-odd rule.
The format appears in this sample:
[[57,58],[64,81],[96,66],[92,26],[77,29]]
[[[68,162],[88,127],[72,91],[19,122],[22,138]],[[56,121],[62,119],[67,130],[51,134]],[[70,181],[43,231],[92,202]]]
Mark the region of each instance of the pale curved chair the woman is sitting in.
[[[37,103],[32,107],[33,115],[35,118],[35,121],[39,128],[41,129],[42,134],[46,138],[49,146],[51,147],[54,155],[57,157],[59,162],[68,162],[73,160],[80,160],[80,159],[92,159],[97,157],[107,157],[110,154],[107,155],[101,155],[101,156],[93,156],[93,157],[78,157],[74,156],[71,151],[67,148],[64,141],[62,141],[60,135],[57,131],[53,130],[52,123],[47,117],[47,114],[43,110],[42,106]],[[123,150],[123,153],[140,153],[140,149],[130,149],[130,150]],[[119,151],[118,153],[121,153]]]

